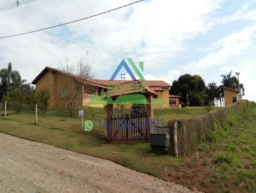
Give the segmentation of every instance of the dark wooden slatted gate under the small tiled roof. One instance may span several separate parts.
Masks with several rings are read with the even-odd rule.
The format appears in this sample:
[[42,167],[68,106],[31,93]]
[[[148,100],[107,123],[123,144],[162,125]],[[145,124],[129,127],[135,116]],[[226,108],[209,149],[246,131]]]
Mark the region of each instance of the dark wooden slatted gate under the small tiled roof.
[[146,143],[147,117],[146,114],[140,116],[114,115],[111,121],[111,143]]

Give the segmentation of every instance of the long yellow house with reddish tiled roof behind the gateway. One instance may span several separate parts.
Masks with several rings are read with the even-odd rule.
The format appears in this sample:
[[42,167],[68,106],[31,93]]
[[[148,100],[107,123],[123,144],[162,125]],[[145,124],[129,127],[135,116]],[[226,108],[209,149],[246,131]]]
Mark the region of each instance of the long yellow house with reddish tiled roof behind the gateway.
[[[65,72],[58,70],[52,67],[45,67],[42,72],[40,72],[36,78],[32,81],[32,84],[36,86],[36,94],[42,88],[48,88],[50,93],[50,104],[49,109],[58,109],[61,107],[65,107],[60,100],[60,95],[58,94],[58,74],[64,74]],[[68,74],[74,80],[81,81],[77,75]],[[104,107],[104,104],[88,104],[90,100],[93,98],[93,93],[95,93],[96,98],[99,93],[102,91],[108,91],[109,85],[115,85],[125,82],[131,82],[128,80],[99,80],[99,79],[90,79],[90,80],[82,80],[83,87],[81,88],[81,102],[79,105],[90,106],[90,107]],[[154,93],[156,93],[156,97],[161,99],[164,104],[156,104],[154,105],[154,109],[159,108],[169,108],[170,107],[170,97],[169,97],[169,88],[170,84],[164,81],[145,81],[143,82],[148,88],[152,89]],[[88,89],[90,86],[90,89]]]

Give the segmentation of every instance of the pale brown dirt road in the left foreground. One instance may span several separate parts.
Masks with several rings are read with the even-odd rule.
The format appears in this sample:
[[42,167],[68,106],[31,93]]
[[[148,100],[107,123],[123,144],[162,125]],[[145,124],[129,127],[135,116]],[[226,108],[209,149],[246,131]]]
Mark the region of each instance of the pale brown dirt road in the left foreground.
[[111,161],[0,133],[0,192],[191,192]]

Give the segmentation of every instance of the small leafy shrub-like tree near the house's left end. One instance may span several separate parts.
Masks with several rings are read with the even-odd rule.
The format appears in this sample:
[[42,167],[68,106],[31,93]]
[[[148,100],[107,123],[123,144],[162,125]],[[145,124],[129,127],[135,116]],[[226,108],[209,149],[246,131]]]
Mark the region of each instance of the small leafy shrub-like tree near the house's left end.
[[38,96],[36,97],[36,102],[39,109],[45,114],[50,104],[50,92],[47,88],[40,89]]

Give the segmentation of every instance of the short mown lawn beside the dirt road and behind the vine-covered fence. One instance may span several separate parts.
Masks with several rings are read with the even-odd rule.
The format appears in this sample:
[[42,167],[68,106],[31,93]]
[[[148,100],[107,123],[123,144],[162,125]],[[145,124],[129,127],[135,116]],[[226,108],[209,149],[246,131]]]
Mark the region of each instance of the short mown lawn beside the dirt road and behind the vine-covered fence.
[[[212,109],[214,110],[214,109]],[[97,112],[94,119],[99,120],[106,117],[106,112],[99,108],[86,108],[87,119],[92,119],[91,113]],[[156,109],[155,118],[164,120],[191,118],[204,114],[209,109],[189,108],[189,109]],[[33,112],[21,112],[15,114],[9,111],[8,120],[0,119],[0,132],[15,135],[31,141],[52,144],[54,146],[80,153],[93,155],[114,160],[125,167],[153,174],[161,177],[164,169],[170,167],[180,167],[184,164],[183,158],[174,158],[151,153],[150,145],[145,144],[108,144],[104,139],[105,130],[99,129],[96,124],[96,131],[80,133],[80,118],[70,118],[67,109],[48,111],[45,116],[38,115],[38,125],[35,123]]]

